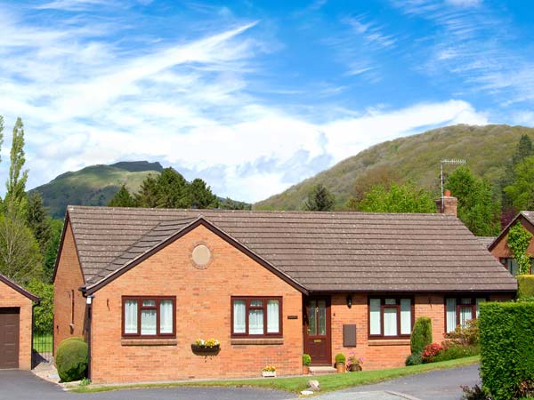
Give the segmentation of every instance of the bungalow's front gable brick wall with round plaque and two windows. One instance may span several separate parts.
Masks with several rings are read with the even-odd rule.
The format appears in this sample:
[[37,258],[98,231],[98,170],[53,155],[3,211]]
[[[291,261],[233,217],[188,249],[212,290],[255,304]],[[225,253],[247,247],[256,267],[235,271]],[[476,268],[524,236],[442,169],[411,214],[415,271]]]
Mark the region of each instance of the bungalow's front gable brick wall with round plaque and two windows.
[[[206,269],[190,263],[203,241],[214,254]],[[176,344],[123,346],[121,296],[175,295]],[[231,344],[231,296],[283,296],[280,345]],[[288,320],[287,316],[298,316]],[[92,379],[95,382],[258,377],[266,364],[279,375],[302,372],[302,294],[235,247],[200,226],[95,292]],[[192,354],[198,338],[221,340],[219,355]]]

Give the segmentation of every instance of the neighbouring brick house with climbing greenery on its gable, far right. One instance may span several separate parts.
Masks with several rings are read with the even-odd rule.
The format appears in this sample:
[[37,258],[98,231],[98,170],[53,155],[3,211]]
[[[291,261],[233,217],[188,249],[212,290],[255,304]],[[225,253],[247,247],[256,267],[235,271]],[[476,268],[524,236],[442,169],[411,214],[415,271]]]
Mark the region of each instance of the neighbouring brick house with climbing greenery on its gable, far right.
[[[517,214],[507,226],[503,229],[499,236],[490,244],[488,250],[496,257],[502,265],[510,272],[512,275],[517,275],[518,266],[517,262],[514,260],[514,254],[508,248],[508,230],[512,228],[516,222],[521,222],[523,228],[527,229],[532,236],[534,236],[534,212],[523,211]],[[532,257],[532,266],[534,267],[534,238],[530,239],[530,245],[527,249],[527,253]],[[530,268],[530,274],[532,273],[532,268]]]

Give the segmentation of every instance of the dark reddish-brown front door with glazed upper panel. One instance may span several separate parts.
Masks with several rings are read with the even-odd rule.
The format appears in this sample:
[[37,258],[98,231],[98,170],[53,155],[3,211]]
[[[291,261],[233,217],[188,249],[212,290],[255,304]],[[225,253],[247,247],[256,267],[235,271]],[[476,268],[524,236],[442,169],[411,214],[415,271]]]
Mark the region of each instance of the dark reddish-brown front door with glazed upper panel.
[[312,356],[312,365],[331,365],[330,298],[304,300],[304,353]]

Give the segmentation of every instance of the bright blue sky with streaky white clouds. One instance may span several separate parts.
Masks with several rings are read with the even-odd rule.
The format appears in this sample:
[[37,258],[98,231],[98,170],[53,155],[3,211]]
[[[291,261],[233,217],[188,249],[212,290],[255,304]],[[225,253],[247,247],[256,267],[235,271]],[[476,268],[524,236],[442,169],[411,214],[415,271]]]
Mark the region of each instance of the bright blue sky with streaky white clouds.
[[[160,161],[258,201],[384,140],[534,125],[526,1],[0,1],[0,172]],[[438,163],[438,160],[436,160]]]

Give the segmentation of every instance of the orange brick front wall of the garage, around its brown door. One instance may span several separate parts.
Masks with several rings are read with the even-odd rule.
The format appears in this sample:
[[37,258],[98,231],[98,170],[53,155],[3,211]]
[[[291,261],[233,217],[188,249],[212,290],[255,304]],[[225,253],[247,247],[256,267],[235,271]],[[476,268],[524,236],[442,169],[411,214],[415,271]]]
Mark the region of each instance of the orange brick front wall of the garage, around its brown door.
[[18,307],[19,316],[19,368],[31,369],[32,300],[0,282],[0,308]]

